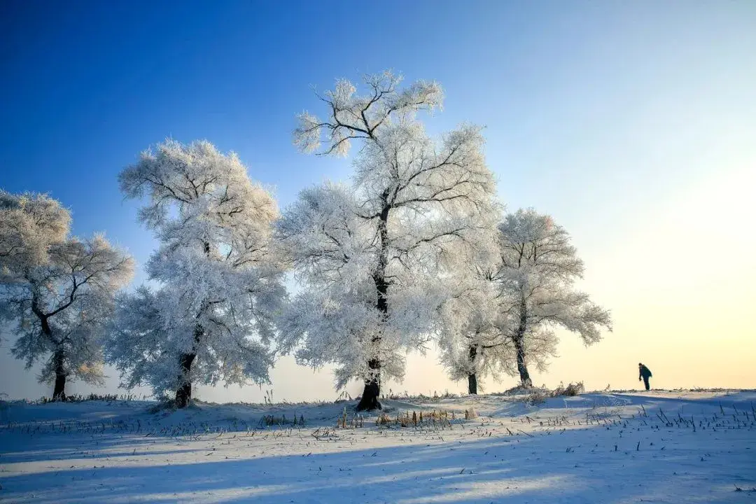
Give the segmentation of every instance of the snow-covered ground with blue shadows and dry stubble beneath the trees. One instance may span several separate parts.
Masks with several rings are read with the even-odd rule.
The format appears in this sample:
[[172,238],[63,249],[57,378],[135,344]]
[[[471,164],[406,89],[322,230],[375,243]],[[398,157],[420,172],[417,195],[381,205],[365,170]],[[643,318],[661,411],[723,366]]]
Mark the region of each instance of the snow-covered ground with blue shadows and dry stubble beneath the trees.
[[0,502],[756,504],[756,391],[389,400],[424,425],[335,428],[349,404],[6,404]]

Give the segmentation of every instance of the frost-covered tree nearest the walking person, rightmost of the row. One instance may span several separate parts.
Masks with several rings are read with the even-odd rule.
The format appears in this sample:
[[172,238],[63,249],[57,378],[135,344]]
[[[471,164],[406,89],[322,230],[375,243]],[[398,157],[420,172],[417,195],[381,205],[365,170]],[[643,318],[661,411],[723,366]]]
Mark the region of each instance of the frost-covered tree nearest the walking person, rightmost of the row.
[[556,352],[553,329],[577,332],[585,345],[601,339],[601,329],[612,330],[609,311],[575,289],[584,272],[583,261],[570,243],[569,233],[549,215],[520,209],[499,225],[500,278],[503,293],[503,340],[515,358],[508,371],[522,385],[532,385],[528,365],[545,369]]

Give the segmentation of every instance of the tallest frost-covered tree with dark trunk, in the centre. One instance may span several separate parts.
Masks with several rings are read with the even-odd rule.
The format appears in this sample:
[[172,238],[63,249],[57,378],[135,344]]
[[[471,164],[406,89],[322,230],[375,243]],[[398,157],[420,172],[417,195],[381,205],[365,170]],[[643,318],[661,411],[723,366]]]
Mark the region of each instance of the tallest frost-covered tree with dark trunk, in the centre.
[[284,317],[282,348],[298,347],[311,366],[336,363],[337,386],[363,380],[358,410],[380,408],[381,381],[401,379],[404,352],[429,340],[441,272],[494,213],[480,129],[462,125],[433,141],[416,113],[441,106],[441,87],[400,82],[366,76],[367,94],[357,94],[339,80],[321,96],[326,119],[299,116],[302,150],[361,148],[352,184],[302,191],[279,227],[304,287]]

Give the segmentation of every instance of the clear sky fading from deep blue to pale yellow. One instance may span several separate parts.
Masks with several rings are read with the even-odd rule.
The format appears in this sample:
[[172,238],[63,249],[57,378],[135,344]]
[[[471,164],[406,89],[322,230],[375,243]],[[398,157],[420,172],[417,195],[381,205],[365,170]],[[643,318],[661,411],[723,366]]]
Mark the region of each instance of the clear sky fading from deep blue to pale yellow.
[[[756,386],[756,2],[0,2],[0,187],[48,192],[76,234],[144,264],[155,243],[116,175],[168,136],[235,150],[281,206],[345,180],[349,160],[296,152],[311,87],[393,69],[445,88],[430,131],[485,125],[508,208],[570,233],[581,288],[615,331],[563,335],[534,382]],[[138,274],[137,282],[144,280]],[[751,314],[750,316],[748,314]],[[10,336],[12,340],[12,335]],[[0,392],[51,394],[0,346]],[[118,382],[110,370],[104,391]],[[333,398],[290,358],[274,400]],[[488,380],[488,391],[514,385]],[[393,391],[463,391],[431,351]],[[89,391],[75,383],[70,391]],[[357,383],[349,387],[355,395]],[[200,388],[262,400],[256,387]]]

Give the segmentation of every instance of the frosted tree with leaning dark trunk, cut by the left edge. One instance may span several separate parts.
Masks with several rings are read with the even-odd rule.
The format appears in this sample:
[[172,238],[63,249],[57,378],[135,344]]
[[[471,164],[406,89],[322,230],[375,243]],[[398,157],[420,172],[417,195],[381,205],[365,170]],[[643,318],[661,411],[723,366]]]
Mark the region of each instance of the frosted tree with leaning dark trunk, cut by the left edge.
[[64,399],[68,379],[101,384],[113,297],[134,261],[101,235],[70,237],[70,213],[44,194],[0,191],[0,319],[15,323],[14,357],[45,360],[40,382]]

